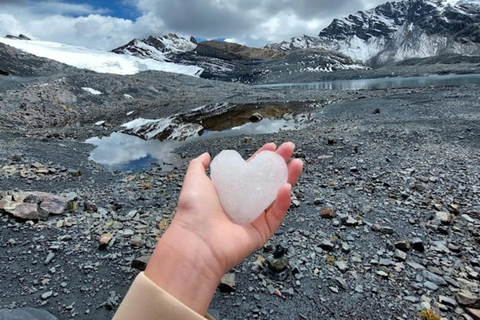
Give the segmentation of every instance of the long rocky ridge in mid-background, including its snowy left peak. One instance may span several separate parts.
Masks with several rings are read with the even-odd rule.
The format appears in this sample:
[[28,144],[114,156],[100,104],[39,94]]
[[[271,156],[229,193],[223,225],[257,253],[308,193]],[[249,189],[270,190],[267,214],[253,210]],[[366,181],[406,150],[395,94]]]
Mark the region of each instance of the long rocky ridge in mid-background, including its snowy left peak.
[[321,48],[290,54],[216,40],[197,43],[193,37],[187,39],[175,34],[135,39],[113,52],[193,65],[203,69],[202,78],[248,84],[276,82],[280,78],[289,81],[304,72],[363,68],[341,53]]

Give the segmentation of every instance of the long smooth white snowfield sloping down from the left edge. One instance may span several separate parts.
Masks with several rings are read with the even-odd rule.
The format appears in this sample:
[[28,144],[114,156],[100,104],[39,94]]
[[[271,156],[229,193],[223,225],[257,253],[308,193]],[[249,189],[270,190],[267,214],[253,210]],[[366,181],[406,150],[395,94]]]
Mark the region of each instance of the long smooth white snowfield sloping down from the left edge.
[[202,68],[195,66],[141,59],[130,55],[120,55],[58,42],[6,38],[0,38],[0,42],[39,57],[99,73],[130,75],[141,71],[156,70],[198,77],[203,72]]

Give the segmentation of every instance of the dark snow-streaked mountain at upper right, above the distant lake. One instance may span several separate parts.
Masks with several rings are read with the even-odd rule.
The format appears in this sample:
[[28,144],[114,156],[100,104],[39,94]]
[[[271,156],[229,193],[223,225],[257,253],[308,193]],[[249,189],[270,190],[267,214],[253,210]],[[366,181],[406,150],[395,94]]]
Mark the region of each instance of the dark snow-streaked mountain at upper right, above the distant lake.
[[318,37],[268,45],[325,48],[371,65],[446,53],[480,55],[480,1],[406,0],[335,19]]

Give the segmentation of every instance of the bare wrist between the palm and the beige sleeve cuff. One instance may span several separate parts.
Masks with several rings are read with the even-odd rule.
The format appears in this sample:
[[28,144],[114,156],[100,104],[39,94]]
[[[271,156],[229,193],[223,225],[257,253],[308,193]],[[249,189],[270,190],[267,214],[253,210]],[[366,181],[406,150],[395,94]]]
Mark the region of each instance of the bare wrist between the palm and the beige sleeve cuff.
[[[205,315],[223,272],[209,248],[198,237],[174,223],[168,228],[148,263],[145,275],[195,312]],[[210,257],[210,258],[209,258]]]

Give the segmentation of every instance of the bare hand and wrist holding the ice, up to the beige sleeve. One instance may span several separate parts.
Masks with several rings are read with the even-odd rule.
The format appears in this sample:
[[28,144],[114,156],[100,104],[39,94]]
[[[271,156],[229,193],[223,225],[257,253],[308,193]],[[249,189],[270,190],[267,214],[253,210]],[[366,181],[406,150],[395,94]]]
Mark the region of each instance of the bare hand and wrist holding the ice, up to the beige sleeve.
[[[268,143],[260,151],[275,151],[286,162],[295,145],[278,149]],[[253,155],[252,157],[254,157]],[[222,276],[263,246],[281,225],[290,207],[291,186],[303,169],[301,160],[288,163],[288,183],[273,204],[249,225],[233,223],[223,211],[215,187],[206,175],[210,155],[190,162],[172,223],[160,238],[145,275],[186,306],[205,315]]]

